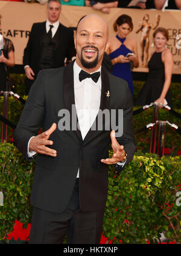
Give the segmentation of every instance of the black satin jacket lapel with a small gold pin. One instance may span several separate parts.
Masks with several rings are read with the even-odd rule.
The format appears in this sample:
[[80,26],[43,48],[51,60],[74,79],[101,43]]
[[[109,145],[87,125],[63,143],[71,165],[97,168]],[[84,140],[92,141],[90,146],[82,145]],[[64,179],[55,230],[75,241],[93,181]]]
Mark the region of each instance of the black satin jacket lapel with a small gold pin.
[[[109,76],[107,74],[106,69],[104,66],[101,68],[101,102],[100,102],[100,110],[104,109],[109,109],[109,103],[110,103],[110,85],[109,85]],[[94,121],[94,124],[92,124],[92,127],[95,127],[95,122],[96,124],[98,123],[98,115]],[[103,129],[104,129],[104,121],[103,121]],[[91,127],[91,128],[92,128]],[[96,126],[97,127],[97,126]],[[86,137],[84,138],[83,143],[87,144],[92,138],[95,136],[98,136],[98,134],[102,131],[100,130],[94,130],[94,129],[89,129],[89,132],[87,132]]]

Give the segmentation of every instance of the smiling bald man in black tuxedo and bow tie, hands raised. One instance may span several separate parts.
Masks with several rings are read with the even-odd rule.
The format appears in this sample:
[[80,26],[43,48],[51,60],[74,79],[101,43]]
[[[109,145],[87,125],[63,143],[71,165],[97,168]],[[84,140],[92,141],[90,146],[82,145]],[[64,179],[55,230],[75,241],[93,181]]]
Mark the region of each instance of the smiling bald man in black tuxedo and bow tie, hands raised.
[[[63,243],[66,233],[68,243],[100,243],[109,164],[120,172],[135,153],[129,87],[101,66],[108,38],[100,16],[83,18],[75,62],[39,72],[14,130],[14,143],[25,158],[31,161],[37,153],[29,243]],[[116,133],[112,118],[100,115],[119,109],[122,136],[116,136],[119,115]],[[37,135],[40,127],[43,132]]]

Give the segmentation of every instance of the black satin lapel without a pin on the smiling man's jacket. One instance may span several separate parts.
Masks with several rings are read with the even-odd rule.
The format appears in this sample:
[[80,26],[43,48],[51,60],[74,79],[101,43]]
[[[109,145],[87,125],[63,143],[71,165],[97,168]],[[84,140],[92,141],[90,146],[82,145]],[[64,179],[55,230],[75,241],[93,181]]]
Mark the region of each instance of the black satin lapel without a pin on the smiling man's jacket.
[[[65,67],[64,78],[63,78],[63,97],[65,102],[66,109],[69,110],[70,113],[70,123],[72,127],[72,105],[74,105],[74,119],[77,119],[77,112],[75,108],[75,95],[74,95],[74,70],[73,70],[74,62],[71,62],[69,65]],[[77,133],[78,138],[82,141],[80,130],[76,129],[72,132]]]

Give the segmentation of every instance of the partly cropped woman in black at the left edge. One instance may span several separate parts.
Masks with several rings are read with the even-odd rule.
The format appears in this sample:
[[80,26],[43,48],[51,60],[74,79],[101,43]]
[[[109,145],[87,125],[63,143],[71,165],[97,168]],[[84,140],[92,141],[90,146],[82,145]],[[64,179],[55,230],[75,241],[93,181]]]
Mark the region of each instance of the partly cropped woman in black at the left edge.
[[[0,15],[1,29],[1,15]],[[7,76],[9,67],[14,66],[14,46],[10,39],[3,37],[4,48],[0,56],[0,91],[6,91]]]

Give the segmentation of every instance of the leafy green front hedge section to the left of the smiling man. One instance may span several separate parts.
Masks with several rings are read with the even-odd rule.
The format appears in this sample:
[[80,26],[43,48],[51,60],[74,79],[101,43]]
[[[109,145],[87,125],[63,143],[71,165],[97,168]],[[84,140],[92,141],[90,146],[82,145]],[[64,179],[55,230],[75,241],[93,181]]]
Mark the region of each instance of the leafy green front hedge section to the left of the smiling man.
[[12,231],[16,219],[25,228],[30,223],[33,169],[34,162],[25,161],[16,147],[0,144],[0,191],[4,194],[4,206],[0,206],[0,240]]

